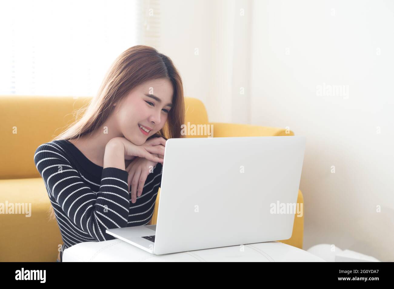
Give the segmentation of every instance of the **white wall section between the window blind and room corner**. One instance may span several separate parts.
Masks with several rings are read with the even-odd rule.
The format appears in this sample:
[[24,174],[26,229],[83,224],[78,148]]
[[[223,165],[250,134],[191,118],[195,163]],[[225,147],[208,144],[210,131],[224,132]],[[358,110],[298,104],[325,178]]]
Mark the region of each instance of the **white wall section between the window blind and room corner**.
[[[160,51],[180,70],[185,96],[203,101],[210,121],[250,121],[251,3],[251,0],[161,3]],[[240,94],[241,87],[244,94]]]

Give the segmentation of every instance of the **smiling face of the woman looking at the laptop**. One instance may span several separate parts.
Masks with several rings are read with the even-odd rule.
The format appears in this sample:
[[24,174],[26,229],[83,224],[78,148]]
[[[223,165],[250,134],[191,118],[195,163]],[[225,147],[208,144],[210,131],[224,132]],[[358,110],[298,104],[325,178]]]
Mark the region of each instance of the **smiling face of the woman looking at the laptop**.
[[[134,88],[117,106],[117,123],[133,144],[144,144],[164,127],[171,110],[173,87],[169,79],[154,79]],[[149,132],[139,127],[142,125]]]

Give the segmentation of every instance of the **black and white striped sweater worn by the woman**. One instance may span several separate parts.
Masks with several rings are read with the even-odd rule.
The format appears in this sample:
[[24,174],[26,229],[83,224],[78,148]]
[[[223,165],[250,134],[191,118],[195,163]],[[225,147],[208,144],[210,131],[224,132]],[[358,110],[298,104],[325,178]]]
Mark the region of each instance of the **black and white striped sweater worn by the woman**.
[[34,163],[43,178],[63,239],[63,249],[115,237],[106,229],[147,225],[162,180],[161,163],[148,174],[133,204],[128,172],[91,162],[68,140],[40,145]]

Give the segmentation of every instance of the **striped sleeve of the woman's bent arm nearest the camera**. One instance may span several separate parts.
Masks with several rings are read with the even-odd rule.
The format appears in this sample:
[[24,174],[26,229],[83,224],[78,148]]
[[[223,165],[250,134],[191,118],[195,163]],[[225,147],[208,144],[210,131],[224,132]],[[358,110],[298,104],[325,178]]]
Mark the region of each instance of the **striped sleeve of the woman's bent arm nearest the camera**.
[[71,165],[67,155],[52,144],[40,145],[34,163],[49,197],[63,214],[97,241],[113,239],[106,229],[124,228],[129,214],[128,172],[118,168],[102,170],[100,190],[94,192]]

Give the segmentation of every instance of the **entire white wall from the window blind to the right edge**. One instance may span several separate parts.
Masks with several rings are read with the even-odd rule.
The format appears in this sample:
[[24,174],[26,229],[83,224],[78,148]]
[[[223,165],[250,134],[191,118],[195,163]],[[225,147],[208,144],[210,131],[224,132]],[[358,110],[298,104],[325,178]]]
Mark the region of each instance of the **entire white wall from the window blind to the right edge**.
[[[305,250],[329,243],[394,261],[393,5],[162,1],[160,50],[210,121],[288,126],[307,137]],[[323,83],[348,94],[319,96]]]

